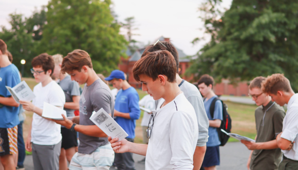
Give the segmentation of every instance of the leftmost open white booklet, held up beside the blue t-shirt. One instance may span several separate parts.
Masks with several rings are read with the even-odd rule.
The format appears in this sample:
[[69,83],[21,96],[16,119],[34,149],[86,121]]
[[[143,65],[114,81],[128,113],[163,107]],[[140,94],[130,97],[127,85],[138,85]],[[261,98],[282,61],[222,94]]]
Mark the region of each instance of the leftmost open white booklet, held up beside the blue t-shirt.
[[35,98],[35,95],[25,81],[18,83],[17,86],[13,88],[6,86],[6,89],[17,103],[20,103],[19,100],[31,101]]

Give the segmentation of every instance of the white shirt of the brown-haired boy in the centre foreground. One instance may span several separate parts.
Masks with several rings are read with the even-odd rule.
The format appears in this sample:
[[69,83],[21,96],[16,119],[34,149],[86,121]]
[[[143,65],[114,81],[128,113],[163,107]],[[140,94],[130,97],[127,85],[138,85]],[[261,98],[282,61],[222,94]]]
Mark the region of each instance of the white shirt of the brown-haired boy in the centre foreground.
[[162,99],[153,110],[154,126],[146,153],[146,170],[193,169],[198,141],[198,122],[194,107],[179,94],[166,106]]

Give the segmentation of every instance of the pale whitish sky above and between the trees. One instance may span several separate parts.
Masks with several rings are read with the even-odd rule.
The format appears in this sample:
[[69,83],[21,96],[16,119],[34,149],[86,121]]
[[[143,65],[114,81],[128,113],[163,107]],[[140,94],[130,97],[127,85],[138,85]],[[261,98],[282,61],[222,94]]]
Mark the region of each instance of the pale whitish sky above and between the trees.
[[[0,25],[9,28],[9,14],[21,13],[29,17],[32,12],[47,5],[49,0],[0,0]],[[175,47],[183,50],[187,55],[195,55],[209,40],[204,34],[204,24],[199,19],[198,8],[204,0],[112,0],[117,19],[124,22],[125,18],[135,17],[138,30],[133,38],[143,44],[155,43],[160,37],[168,37]],[[232,0],[223,0],[221,7],[229,8]],[[125,34],[125,31],[121,31]],[[196,37],[206,40],[193,45],[191,41]]]

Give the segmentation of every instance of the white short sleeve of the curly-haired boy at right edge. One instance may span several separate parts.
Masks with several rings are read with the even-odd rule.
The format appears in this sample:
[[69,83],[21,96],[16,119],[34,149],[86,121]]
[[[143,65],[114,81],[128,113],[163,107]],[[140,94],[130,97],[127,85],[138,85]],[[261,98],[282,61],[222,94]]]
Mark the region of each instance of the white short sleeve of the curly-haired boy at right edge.
[[286,121],[283,124],[284,130],[281,134],[281,138],[293,142],[298,134],[298,107],[292,107],[287,111]]

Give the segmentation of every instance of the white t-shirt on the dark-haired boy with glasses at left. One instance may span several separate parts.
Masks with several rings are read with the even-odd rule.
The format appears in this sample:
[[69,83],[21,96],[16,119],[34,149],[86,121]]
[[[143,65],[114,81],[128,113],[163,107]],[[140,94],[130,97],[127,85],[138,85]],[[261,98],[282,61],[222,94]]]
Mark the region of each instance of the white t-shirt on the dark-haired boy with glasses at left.
[[[32,103],[41,109],[44,102],[54,106],[64,106],[65,95],[61,87],[53,80],[42,87],[42,83],[37,84],[33,93],[36,96]],[[47,120],[40,115],[33,113],[31,142],[38,145],[56,145],[62,139],[61,125],[54,121]]]

